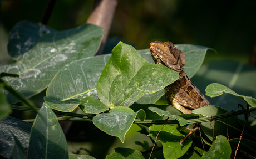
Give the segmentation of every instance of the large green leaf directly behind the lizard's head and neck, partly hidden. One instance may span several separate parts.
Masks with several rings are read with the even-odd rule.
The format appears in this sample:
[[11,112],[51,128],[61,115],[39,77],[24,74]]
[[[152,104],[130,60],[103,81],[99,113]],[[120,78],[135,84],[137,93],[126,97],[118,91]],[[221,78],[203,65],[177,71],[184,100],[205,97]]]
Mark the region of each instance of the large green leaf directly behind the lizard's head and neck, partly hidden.
[[[213,50],[210,48],[202,47],[199,45],[191,45],[191,44],[176,44],[181,51],[185,53],[185,72],[189,78],[192,78],[195,73],[199,70],[201,65],[203,64],[205,54],[208,50]],[[150,50],[138,50],[141,56],[147,60],[149,63],[153,63],[154,61],[151,58]],[[161,96],[164,95],[164,90],[157,91],[154,94],[145,94],[136,102],[138,104],[150,104],[155,103]]]

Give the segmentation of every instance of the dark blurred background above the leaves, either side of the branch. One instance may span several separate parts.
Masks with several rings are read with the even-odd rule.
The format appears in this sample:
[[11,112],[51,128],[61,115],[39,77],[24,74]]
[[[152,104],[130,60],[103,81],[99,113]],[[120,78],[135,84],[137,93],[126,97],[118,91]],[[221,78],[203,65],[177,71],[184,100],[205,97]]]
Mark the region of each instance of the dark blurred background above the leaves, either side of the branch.
[[[40,22],[47,1],[0,1],[1,57],[7,35],[20,20]],[[57,30],[86,23],[93,1],[57,1],[48,25]],[[248,63],[256,40],[256,1],[119,1],[109,37],[149,48],[154,40],[214,48],[208,59]],[[3,56],[4,57],[4,56]]]

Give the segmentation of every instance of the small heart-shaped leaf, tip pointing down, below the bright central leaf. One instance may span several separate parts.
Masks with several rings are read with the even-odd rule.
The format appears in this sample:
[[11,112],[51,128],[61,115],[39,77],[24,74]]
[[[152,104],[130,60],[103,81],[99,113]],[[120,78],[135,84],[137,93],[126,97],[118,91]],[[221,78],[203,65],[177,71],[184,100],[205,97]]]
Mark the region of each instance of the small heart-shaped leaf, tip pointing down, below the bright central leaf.
[[129,107],[118,106],[109,113],[103,113],[93,117],[92,121],[101,131],[119,137],[121,142],[124,143],[125,134],[130,129],[136,117],[143,121],[145,119],[145,112],[143,110],[134,112]]

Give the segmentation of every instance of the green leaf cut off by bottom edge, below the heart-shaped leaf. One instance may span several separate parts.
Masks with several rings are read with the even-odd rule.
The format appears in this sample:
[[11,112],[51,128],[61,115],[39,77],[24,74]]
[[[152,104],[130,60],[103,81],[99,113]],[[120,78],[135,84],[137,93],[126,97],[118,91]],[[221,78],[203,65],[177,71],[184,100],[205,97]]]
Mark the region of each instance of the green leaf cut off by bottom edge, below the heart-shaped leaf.
[[115,152],[106,156],[106,159],[144,159],[142,153],[137,150],[133,150],[130,148],[115,148]]

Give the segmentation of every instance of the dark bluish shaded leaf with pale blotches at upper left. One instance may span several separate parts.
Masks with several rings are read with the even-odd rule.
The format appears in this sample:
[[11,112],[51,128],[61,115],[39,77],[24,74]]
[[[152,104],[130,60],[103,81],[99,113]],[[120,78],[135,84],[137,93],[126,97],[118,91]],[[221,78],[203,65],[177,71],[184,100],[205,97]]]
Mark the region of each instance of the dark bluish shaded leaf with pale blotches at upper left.
[[7,45],[8,54],[12,58],[17,59],[19,55],[31,49],[38,42],[40,37],[53,32],[55,32],[55,30],[40,23],[28,21],[18,22],[9,33]]

